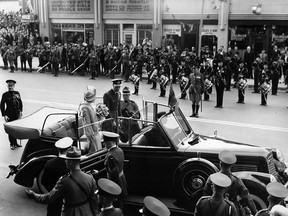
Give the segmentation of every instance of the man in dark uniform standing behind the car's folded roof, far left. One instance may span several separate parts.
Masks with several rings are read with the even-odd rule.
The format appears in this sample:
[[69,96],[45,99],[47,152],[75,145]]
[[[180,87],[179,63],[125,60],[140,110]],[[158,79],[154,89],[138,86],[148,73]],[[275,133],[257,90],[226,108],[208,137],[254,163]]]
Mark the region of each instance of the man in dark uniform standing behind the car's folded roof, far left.
[[[1,113],[5,122],[11,122],[22,117],[23,104],[18,91],[14,91],[16,81],[7,80],[8,91],[2,95],[1,99]],[[10,148],[14,150],[16,147],[21,147],[17,144],[17,140],[8,135],[10,141]]]

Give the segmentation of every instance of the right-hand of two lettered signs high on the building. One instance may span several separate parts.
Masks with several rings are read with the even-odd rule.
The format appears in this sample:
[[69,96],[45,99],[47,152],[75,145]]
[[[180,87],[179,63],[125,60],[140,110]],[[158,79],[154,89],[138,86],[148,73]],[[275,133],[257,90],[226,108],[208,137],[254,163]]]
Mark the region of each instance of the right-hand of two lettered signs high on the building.
[[153,0],[104,0],[103,13],[152,13]]

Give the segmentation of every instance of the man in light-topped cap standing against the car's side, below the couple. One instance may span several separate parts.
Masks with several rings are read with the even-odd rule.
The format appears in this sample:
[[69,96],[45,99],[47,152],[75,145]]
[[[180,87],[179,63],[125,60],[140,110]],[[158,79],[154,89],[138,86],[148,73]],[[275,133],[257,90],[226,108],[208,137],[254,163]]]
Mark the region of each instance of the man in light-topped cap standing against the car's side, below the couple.
[[118,197],[117,207],[123,209],[123,200],[127,196],[127,182],[124,168],[124,153],[121,148],[119,148],[116,143],[118,142],[119,135],[113,132],[102,131],[104,145],[108,152],[105,158],[105,166],[107,171],[107,178],[118,184],[122,193]]

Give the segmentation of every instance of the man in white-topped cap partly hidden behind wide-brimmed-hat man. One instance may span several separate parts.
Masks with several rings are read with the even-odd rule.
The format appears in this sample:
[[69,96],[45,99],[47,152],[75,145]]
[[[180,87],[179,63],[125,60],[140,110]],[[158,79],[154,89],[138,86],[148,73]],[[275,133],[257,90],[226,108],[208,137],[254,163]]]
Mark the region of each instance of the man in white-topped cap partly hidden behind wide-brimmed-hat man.
[[[59,178],[69,173],[69,169],[65,165],[65,160],[61,158],[61,155],[66,155],[68,148],[71,147],[73,139],[70,137],[64,137],[55,143],[55,147],[58,149],[58,157],[48,160],[44,167],[42,184],[51,191],[56,185]],[[47,216],[61,216],[63,204],[63,197],[59,197],[47,206]]]

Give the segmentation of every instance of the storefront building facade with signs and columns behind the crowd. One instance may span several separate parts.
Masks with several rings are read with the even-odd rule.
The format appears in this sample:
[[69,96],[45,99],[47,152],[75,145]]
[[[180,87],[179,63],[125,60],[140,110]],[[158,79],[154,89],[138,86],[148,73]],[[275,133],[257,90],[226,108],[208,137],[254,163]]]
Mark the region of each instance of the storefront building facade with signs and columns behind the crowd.
[[32,0],[42,36],[118,45],[163,37],[183,49],[208,45],[256,53],[287,45],[286,0]]

